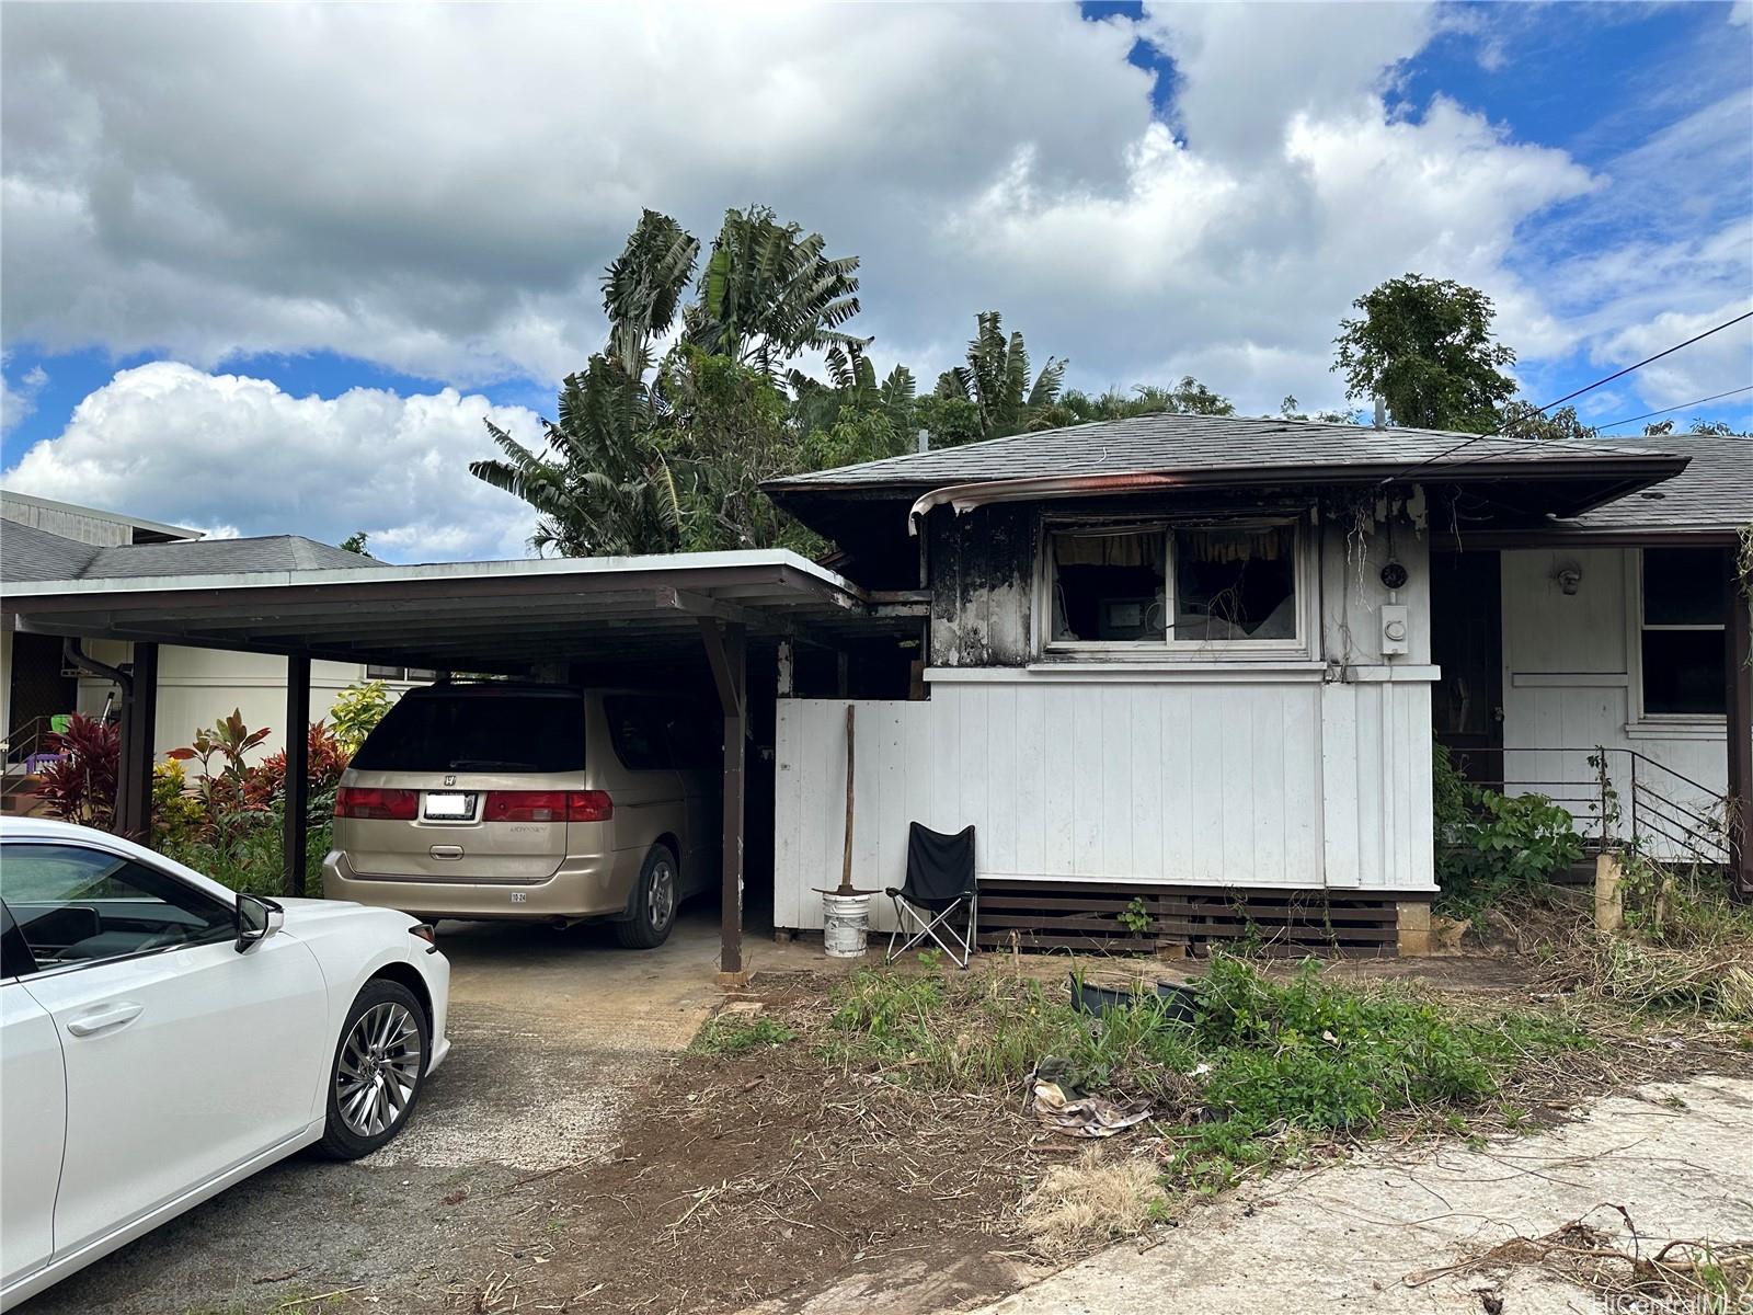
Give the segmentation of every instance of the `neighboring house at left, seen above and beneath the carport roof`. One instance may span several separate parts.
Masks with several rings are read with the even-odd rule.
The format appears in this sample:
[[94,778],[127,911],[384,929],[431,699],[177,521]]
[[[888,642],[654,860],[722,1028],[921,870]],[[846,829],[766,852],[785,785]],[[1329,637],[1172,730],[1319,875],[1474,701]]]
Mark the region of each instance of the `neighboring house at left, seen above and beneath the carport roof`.
[[[198,530],[0,491],[0,584],[370,565],[356,552],[296,535],[202,538]],[[131,649],[114,640],[86,645],[86,652],[107,666],[126,666]],[[326,717],[335,696],[349,684],[382,679],[400,691],[408,687],[408,677],[400,666],[312,663],[310,715]],[[429,673],[415,672],[412,677],[422,680]],[[198,728],[212,726],[233,708],[249,726],[270,728],[263,754],[282,747],[284,659],[165,645],[158,682],[158,754],[188,743]],[[9,743],[16,740],[23,745],[33,726],[61,712],[98,715],[112,694],[116,689],[107,679],[81,675],[65,661],[60,636],[0,631],[0,728]]]

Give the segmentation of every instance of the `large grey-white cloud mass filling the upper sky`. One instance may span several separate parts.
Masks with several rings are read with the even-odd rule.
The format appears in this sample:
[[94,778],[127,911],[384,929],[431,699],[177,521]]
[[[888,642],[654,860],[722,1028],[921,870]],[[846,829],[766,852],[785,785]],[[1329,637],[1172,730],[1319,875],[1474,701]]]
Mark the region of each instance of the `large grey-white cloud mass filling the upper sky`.
[[[1713,235],[1744,223],[1748,109],[1742,68],[1742,100],[1699,93],[1595,172],[1451,100],[1390,110],[1439,32],[1509,68],[1530,21],[12,5],[0,326],[203,368],[335,351],[463,387],[550,384],[600,344],[596,279],[642,205],[710,237],[726,205],[768,202],[862,258],[859,330],[926,380],[973,312],[1001,309],[1080,386],[1196,372],[1246,409],[1327,405],[1339,317],[1408,270],[1485,288],[1537,379],[1543,358],[1746,281]],[[1127,63],[1141,39],[1176,60],[1166,121]],[[1702,67],[1648,82],[1629,123],[1637,96],[1720,86]]]

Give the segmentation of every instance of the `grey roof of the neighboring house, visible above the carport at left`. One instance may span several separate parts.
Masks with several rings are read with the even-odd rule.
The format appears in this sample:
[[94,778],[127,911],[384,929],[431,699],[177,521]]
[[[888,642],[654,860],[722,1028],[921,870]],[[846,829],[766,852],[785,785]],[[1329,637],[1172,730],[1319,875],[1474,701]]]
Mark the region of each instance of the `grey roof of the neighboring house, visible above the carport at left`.
[[131,580],[151,575],[230,575],[380,565],[358,552],[298,535],[93,547],[12,521],[0,528],[0,579],[16,582]]

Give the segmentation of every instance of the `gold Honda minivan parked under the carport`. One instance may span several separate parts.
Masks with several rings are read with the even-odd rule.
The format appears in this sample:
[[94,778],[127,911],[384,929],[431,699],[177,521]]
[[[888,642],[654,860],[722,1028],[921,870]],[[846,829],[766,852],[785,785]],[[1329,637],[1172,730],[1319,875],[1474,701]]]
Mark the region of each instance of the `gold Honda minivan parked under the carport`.
[[422,919],[605,919],[661,945],[719,875],[720,726],[631,689],[412,689],[340,778],[323,892]]

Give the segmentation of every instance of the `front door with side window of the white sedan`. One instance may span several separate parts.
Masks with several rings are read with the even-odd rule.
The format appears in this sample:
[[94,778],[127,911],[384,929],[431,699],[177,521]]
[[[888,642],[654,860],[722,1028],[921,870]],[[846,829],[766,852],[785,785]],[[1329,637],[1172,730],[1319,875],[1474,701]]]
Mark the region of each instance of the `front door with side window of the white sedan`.
[[93,845],[12,842],[0,863],[35,961],[19,982],[65,1057],[56,1255],[321,1113],[328,991],[305,945],[272,936],[238,954],[228,901]]

